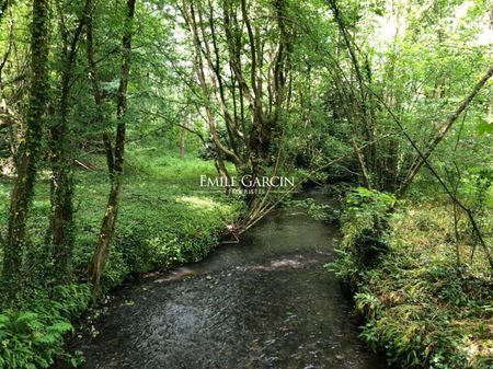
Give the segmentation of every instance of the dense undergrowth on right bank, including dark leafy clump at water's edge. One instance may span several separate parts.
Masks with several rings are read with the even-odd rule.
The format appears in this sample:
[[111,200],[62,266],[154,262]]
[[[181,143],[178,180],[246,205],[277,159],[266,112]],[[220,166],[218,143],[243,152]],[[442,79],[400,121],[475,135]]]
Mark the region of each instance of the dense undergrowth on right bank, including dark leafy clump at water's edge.
[[452,215],[445,201],[398,203],[365,188],[346,198],[343,243],[328,267],[354,288],[366,318],[360,337],[391,364],[493,368],[491,270]]

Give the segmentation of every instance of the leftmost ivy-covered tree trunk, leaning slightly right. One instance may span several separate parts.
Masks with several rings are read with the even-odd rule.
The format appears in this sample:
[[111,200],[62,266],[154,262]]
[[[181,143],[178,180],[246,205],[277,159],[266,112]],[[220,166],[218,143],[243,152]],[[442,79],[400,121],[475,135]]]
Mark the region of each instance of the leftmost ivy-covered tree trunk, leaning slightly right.
[[48,0],[33,1],[31,41],[31,88],[25,118],[25,140],[19,148],[16,177],[9,212],[9,229],[3,256],[3,281],[15,291],[21,276],[22,255],[27,243],[26,221],[33,199],[34,183],[41,158],[44,113],[47,103],[48,73]]

